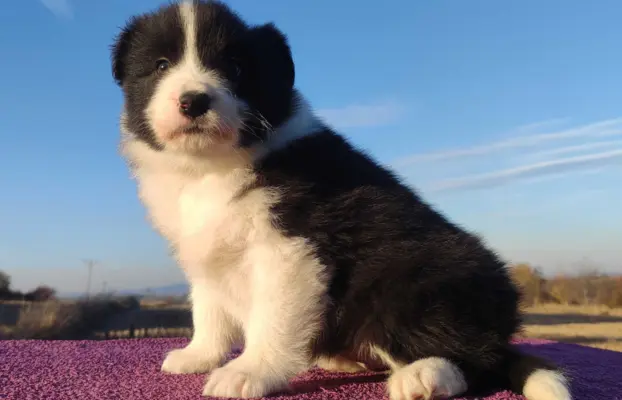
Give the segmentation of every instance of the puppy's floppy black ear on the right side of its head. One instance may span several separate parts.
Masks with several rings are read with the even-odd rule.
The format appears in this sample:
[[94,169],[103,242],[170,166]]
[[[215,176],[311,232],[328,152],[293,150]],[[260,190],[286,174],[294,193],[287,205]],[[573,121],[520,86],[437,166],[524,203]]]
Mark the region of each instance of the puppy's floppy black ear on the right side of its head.
[[270,90],[290,92],[296,73],[285,35],[272,23],[253,27],[248,32],[247,46],[257,78]]

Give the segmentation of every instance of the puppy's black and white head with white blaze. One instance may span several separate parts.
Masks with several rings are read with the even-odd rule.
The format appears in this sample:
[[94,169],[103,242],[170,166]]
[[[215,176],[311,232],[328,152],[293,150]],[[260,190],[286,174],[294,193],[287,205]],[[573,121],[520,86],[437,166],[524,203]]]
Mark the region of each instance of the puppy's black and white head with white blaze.
[[272,24],[249,26],[217,1],[132,18],[112,47],[123,129],[156,150],[251,146],[292,113],[294,63]]

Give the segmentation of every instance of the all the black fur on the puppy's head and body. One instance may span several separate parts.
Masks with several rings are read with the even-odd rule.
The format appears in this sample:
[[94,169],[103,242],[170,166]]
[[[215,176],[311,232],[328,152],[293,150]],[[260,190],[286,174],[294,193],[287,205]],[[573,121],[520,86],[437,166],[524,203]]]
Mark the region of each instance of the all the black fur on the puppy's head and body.
[[[265,140],[294,111],[294,63],[273,26],[250,27],[225,5],[198,2],[201,60],[251,106],[240,146]],[[143,110],[161,57],[184,47],[180,16],[166,7],[133,19],[113,47],[113,76],[127,99],[128,127],[157,148]],[[445,357],[470,391],[521,392],[536,369],[555,369],[509,345],[521,324],[519,292],[504,262],[478,237],[426,204],[371,157],[325,127],[254,165],[257,187],[283,194],[272,212],[288,236],[307,238],[332,276],[316,355],[374,344],[397,361]]]

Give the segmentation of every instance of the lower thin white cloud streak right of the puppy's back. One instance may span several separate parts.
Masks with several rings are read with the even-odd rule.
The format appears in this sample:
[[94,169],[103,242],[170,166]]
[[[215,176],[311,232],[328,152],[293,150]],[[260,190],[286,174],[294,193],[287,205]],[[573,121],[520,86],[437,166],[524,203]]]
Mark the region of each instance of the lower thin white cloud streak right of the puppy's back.
[[622,148],[584,156],[562,158],[552,161],[509,168],[487,174],[447,179],[433,185],[431,191],[464,190],[504,185],[511,181],[533,178],[544,174],[559,174],[566,171],[593,168],[622,162]]

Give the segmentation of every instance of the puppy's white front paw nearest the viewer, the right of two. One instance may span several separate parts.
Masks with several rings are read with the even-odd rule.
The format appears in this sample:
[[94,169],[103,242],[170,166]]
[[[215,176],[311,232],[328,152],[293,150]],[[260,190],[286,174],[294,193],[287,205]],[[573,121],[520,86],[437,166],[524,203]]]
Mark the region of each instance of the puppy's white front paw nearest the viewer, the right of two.
[[258,398],[273,394],[286,386],[286,378],[266,373],[264,368],[253,367],[238,358],[212,372],[207,379],[203,396]]

